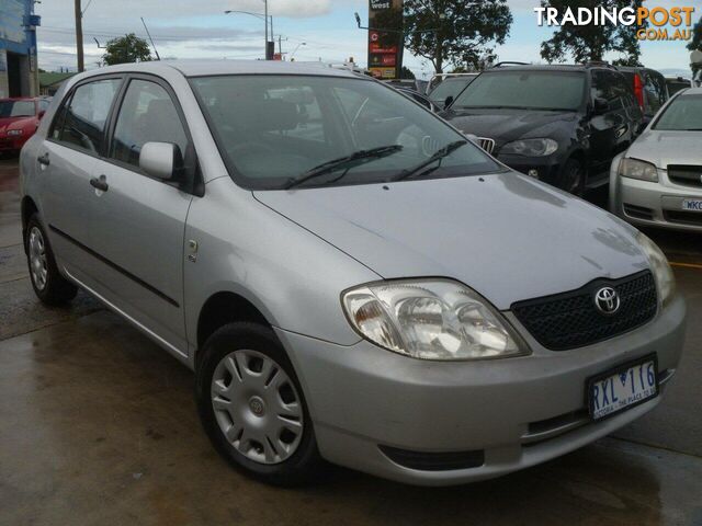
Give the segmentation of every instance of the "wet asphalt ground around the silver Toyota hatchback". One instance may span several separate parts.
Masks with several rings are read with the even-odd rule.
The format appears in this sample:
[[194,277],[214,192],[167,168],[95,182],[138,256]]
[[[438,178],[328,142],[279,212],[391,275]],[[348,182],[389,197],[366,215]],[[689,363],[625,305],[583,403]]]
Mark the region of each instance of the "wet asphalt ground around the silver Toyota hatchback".
[[283,490],[214,453],[192,374],[167,353],[83,293],[67,309],[35,299],[16,160],[0,160],[0,525],[702,526],[702,235],[646,233],[690,316],[682,364],[654,411],[492,481],[422,489],[339,468]]

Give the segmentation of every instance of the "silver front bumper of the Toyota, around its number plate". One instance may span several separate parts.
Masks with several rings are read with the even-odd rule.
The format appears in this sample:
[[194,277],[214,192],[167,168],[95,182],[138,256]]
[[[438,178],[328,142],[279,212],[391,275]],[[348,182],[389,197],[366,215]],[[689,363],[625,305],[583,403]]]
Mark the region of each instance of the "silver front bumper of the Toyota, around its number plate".
[[[581,447],[653,409],[656,398],[599,423],[589,421],[586,380],[656,353],[669,378],[684,338],[678,296],[648,324],[573,351],[541,347],[510,313],[530,356],[426,362],[361,341],[340,346],[278,330],[307,399],[327,460],[380,477],[446,485],[505,474]],[[416,453],[482,451],[478,467],[410,469],[380,446]]]

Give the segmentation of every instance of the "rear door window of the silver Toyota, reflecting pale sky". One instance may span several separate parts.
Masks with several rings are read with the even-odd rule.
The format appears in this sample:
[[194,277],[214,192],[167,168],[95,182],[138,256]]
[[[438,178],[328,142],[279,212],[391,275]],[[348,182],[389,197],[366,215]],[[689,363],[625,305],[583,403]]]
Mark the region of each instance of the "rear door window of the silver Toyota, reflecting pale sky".
[[76,88],[70,102],[57,115],[52,137],[93,153],[100,152],[107,115],[121,82],[121,79],[105,79]]

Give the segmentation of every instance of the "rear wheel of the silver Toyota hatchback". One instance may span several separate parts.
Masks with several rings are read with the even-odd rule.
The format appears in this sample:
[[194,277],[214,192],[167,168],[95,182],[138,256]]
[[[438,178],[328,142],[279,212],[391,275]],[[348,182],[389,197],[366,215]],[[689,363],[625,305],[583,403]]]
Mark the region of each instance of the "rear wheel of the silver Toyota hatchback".
[[48,237],[36,214],[30,217],[26,224],[24,247],[30,279],[36,297],[52,307],[65,305],[73,299],[78,288],[58,272]]

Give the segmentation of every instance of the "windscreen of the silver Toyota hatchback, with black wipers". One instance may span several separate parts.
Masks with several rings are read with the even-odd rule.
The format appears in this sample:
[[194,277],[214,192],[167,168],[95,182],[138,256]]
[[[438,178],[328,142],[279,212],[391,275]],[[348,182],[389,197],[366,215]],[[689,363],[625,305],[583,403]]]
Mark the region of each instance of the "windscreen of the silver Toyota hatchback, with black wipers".
[[[330,161],[359,155],[361,159],[304,185],[390,181],[465,140],[430,112],[373,80],[269,75],[199,77],[191,82],[233,178],[248,188],[288,187]],[[388,148],[381,155],[364,156],[383,147]],[[437,169],[416,175],[503,170],[469,142],[431,168]]]

